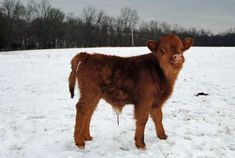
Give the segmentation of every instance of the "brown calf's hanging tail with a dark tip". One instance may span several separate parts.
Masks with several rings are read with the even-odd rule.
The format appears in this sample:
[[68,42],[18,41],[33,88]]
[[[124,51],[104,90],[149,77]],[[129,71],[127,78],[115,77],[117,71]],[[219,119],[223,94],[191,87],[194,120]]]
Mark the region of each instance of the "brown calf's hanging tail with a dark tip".
[[89,54],[87,54],[85,52],[78,53],[71,60],[71,69],[72,69],[72,71],[69,75],[69,91],[70,91],[70,94],[71,94],[71,98],[74,97],[74,87],[75,87],[75,84],[76,84],[78,64],[81,61],[85,60],[88,57],[88,55]]

